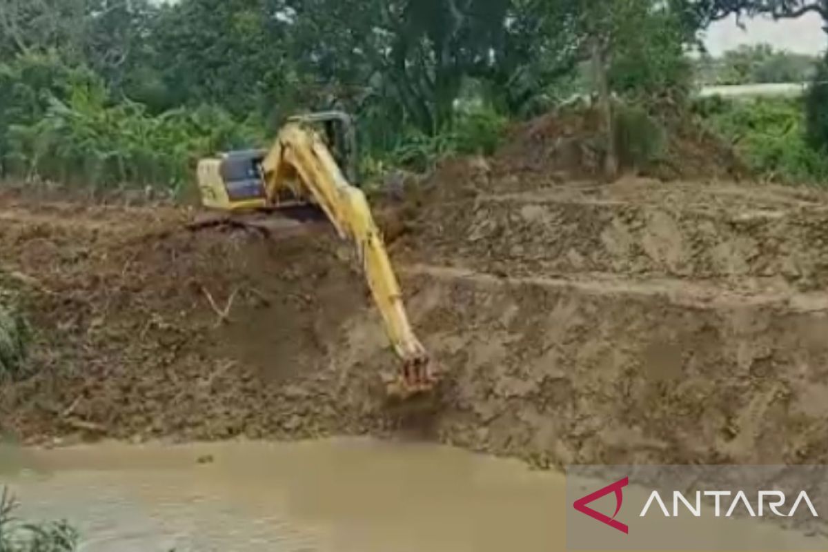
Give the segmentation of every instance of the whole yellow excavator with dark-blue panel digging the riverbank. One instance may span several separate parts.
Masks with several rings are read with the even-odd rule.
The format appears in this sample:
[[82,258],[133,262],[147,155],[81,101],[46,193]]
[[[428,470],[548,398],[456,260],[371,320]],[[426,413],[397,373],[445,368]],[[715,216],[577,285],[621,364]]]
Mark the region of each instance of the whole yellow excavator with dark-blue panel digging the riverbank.
[[431,391],[436,370],[408,321],[397,276],[383,238],[357,181],[357,140],[346,113],[312,113],[288,119],[270,150],[230,151],[198,165],[201,202],[233,213],[289,209],[313,204],[339,237],[356,246],[363,273],[383,318],[386,333],[402,359],[388,382],[392,396]]

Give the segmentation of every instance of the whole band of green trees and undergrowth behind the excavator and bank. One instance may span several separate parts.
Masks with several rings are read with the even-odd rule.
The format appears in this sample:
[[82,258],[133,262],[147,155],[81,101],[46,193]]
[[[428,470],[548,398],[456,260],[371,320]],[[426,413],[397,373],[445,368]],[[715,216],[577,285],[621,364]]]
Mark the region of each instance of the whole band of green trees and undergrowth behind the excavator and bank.
[[[175,191],[198,157],[329,108],[358,117],[369,166],[427,166],[590,92],[614,151],[610,94],[683,103],[707,22],[810,3],[4,0],[0,175]],[[739,55],[734,79],[792,70],[773,54],[745,77]]]

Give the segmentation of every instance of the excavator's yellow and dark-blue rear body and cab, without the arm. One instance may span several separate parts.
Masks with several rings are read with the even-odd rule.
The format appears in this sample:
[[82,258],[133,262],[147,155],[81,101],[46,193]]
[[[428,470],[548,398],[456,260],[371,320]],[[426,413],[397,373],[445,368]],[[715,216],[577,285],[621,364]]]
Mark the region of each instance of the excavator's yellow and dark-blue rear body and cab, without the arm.
[[[347,113],[330,111],[296,115],[288,122],[314,127],[330,149],[331,154],[351,185],[357,186],[356,130],[354,120]],[[267,199],[262,161],[265,150],[242,150],[220,153],[204,159],[198,166],[198,186],[201,203],[210,209],[238,211],[267,209],[274,205]],[[295,204],[289,197],[277,198],[277,204]]]

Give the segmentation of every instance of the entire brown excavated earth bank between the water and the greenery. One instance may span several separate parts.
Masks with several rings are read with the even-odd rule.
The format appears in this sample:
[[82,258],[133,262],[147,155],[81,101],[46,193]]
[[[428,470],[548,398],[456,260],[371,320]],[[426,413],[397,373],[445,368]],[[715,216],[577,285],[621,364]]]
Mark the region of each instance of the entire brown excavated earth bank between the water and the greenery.
[[[36,376],[0,387],[24,439],[427,436],[539,465],[828,462],[828,197],[625,180],[505,193],[440,174],[392,244],[445,369],[388,408],[349,247],[190,225],[173,209],[0,204]],[[449,180],[445,180],[449,179]],[[452,180],[453,179],[453,180]]]

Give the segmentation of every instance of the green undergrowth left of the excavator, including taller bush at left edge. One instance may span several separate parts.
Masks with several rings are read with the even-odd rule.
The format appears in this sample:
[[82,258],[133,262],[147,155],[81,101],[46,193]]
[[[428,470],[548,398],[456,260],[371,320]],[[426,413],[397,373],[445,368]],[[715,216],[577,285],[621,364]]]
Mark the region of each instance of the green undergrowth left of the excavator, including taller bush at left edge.
[[116,100],[99,75],[54,52],[0,65],[0,96],[8,99],[0,107],[0,167],[22,178],[175,189],[198,156],[258,139],[220,108],[153,115],[145,104]]

